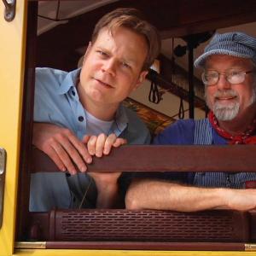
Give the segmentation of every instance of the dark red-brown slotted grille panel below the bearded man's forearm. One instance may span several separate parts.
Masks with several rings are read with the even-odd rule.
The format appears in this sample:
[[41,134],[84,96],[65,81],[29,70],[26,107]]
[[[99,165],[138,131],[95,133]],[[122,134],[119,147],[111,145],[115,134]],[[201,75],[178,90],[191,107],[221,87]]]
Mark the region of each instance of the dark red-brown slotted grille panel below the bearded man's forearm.
[[51,241],[247,241],[245,213],[52,211]]

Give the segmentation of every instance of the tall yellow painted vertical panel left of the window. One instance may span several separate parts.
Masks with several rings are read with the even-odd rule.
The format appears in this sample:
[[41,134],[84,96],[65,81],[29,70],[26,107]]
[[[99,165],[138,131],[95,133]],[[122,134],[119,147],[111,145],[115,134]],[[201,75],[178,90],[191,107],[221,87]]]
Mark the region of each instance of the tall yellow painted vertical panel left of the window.
[[15,20],[7,22],[3,18],[3,2],[0,2],[0,147],[7,152],[0,256],[12,255],[14,250],[26,6],[26,0],[16,1]]

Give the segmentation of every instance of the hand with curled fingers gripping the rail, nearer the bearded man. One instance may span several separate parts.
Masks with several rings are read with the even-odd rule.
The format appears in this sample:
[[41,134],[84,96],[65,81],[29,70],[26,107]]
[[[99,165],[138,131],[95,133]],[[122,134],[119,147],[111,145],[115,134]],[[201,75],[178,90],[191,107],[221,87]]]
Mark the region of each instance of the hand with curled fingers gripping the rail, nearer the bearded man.
[[85,135],[83,143],[87,144],[90,155],[102,157],[102,154],[109,154],[112,147],[119,148],[119,146],[127,143],[127,141],[123,138],[116,137],[114,133],[111,133],[108,137],[102,133],[99,136]]

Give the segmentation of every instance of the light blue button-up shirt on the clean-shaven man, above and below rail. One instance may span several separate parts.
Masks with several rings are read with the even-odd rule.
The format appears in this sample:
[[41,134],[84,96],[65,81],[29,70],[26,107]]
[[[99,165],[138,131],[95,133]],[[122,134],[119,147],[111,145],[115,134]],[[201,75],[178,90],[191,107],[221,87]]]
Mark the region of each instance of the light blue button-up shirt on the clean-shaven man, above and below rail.
[[[52,68],[36,69],[34,121],[66,127],[82,139],[86,135],[86,115],[79,102],[76,84],[80,69],[67,73]],[[124,137],[130,144],[150,142],[149,131],[137,114],[120,105],[109,133]],[[31,179],[30,210],[49,211],[52,208],[77,207],[90,183],[87,174],[67,177],[65,173],[35,173]],[[96,187],[90,185],[91,201]],[[93,198],[92,198],[93,197]],[[95,202],[88,201],[93,205]]]

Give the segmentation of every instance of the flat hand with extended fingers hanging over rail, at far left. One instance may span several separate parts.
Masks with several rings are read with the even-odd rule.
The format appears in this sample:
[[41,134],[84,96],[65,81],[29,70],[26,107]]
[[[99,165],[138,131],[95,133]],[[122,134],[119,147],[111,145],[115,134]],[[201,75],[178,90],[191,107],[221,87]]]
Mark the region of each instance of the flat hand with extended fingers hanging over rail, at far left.
[[62,171],[75,174],[76,167],[85,172],[86,164],[92,158],[84,143],[72,131],[57,125],[34,123],[32,143],[48,154],[55,165]]

